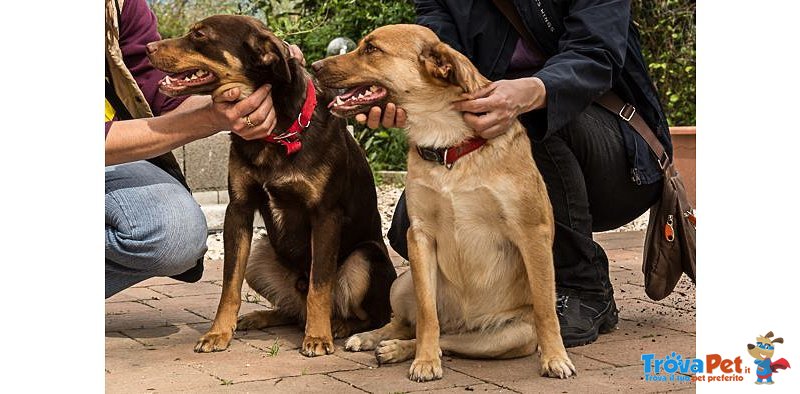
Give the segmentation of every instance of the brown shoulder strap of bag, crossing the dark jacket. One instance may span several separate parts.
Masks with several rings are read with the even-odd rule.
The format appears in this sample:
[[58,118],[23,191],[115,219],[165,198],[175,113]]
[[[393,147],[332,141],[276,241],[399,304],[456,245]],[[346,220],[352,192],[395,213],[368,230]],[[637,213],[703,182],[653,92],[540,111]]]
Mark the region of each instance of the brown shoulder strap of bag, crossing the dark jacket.
[[[536,40],[533,38],[531,32],[525,28],[522,17],[519,15],[519,11],[517,11],[512,1],[492,0],[492,2],[494,2],[494,5],[505,15],[506,19],[511,22],[511,25],[514,26],[514,29],[517,30],[520,37],[525,40],[525,43],[528,44],[529,47],[538,48]],[[661,141],[658,140],[658,137],[656,137],[655,133],[653,133],[653,130],[650,129],[650,126],[647,125],[647,122],[644,121],[642,116],[637,113],[636,107],[623,101],[611,90],[603,94],[596,102],[603,108],[619,115],[620,118],[628,122],[631,127],[642,136],[650,147],[650,150],[656,155],[656,160],[658,160],[658,165],[661,166],[662,170],[665,170],[669,166],[670,158],[669,155],[667,155],[667,151],[664,149],[664,145],[661,144]]]

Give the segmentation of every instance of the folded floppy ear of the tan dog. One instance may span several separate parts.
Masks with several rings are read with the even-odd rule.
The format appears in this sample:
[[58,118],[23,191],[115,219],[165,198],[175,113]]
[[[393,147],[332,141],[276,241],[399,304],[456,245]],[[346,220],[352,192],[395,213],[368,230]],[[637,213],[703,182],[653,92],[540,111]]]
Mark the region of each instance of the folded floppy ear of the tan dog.
[[464,92],[479,89],[481,75],[464,55],[439,42],[423,49],[419,61],[431,77],[460,87]]

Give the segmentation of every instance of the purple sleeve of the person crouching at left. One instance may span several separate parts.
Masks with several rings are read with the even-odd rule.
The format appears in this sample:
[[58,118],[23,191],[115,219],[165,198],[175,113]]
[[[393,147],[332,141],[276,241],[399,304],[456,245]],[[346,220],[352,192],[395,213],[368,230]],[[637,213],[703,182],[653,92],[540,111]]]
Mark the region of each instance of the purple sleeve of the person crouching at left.
[[155,116],[175,109],[186,99],[186,96],[169,97],[158,91],[158,83],[166,74],[150,64],[145,48],[147,43],[161,39],[157,27],[156,16],[146,0],[125,1],[119,21],[122,58]]

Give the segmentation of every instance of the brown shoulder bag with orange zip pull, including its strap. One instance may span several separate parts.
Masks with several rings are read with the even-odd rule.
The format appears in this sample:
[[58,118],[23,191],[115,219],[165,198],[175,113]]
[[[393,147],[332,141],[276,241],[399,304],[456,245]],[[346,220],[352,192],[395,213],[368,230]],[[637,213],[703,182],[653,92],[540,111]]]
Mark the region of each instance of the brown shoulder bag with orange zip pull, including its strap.
[[[538,47],[511,1],[493,1],[520,37],[531,48]],[[612,91],[600,97],[597,103],[619,115],[644,138],[664,171],[664,190],[661,199],[650,207],[650,221],[647,224],[642,263],[645,293],[651,299],[658,301],[672,293],[681,274],[686,273],[693,282],[696,282],[694,207],[689,202],[683,181],[672,166],[664,146],[656,138],[650,126],[636,113],[636,108],[624,102]]]

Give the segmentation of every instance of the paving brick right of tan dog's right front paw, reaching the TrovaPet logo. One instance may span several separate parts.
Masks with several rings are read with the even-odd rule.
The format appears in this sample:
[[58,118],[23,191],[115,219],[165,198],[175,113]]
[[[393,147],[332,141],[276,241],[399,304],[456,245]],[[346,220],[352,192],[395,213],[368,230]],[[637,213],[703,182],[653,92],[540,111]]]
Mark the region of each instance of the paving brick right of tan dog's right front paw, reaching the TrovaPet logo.
[[659,357],[676,352],[684,357],[694,357],[695,342],[694,336],[676,333],[675,335],[597,343],[591,346],[572,348],[571,351],[614,366],[627,367],[641,365],[644,353],[654,353]]

